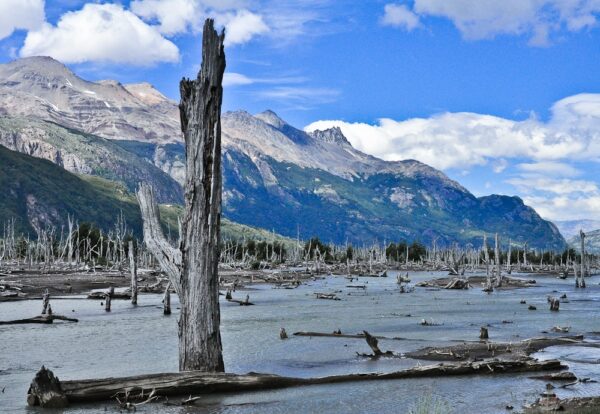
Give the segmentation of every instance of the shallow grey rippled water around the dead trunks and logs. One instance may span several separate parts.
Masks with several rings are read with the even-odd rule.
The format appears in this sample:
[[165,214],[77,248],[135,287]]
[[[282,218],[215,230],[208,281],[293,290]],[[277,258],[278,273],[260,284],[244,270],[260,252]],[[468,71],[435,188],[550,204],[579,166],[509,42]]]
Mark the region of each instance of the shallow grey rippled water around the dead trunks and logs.
[[[442,273],[411,273],[412,283]],[[531,278],[527,276],[527,278]],[[268,372],[286,376],[314,377],[357,372],[385,372],[417,364],[411,359],[371,361],[356,357],[369,352],[364,340],[293,337],[296,331],[357,333],[402,337],[381,340],[380,348],[397,353],[452,341],[477,340],[479,327],[490,324],[494,341],[518,341],[541,336],[552,326],[571,326],[569,334],[583,333],[590,341],[600,340],[600,277],[588,280],[588,288],[575,290],[573,280],[538,277],[537,287],[495,292],[480,288],[468,291],[428,290],[400,294],[395,276],[360,278],[365,292],[346,288],[348,280],[328,277],[297,289],[259,286],[248,291],[255,306],[223,301],[222,337],[225,366],[229,372]],[[341,301],[317,300],[314,292],[341,291]],[[554,292],[556,291],[556,292]],[[568,303],[560,312],[550,312],[548,295],[566,293]],[[243,298],[245,291],[234,293]],[[525,299],[526,305],[519,301]],[[106,313],[100,301],[52,300],[56,314],[73,316],[79,323],[54,325],[0,326],[0,411],[35,412],[25,406],[27,387],[41,365],[59,378],[80,379],[135,375],[177,370],[177,306],[162,315],[160,295],[141,295],[137,307],[127,301],[113,301]],[[537,311],[527,310],[528,305]],[[0,303],[0,320],[36,315],[40,301]],[[410,316],[408,316],[410,315]],[[421,319],[437,326],[421,326]],[[510,320],[513,323],[502,323]],[[281,341],[285,327],[290,339]],[[578,377],[600,379],[600,350],[582,347],[554,347],[538,354],[559,357]],[[424,362],[427,364],[428,362]],[[138,411],[148,413],[278,413],[278,412],[407,412],[419,398],[439,399],[444,411],[456,413],[506,412],[535,400],[544,382],[527,374],[495,377],[373,381],[285,390],[211,395],[198,407],[166,407],[152,404]],[[598,384],[580,384],[559,389],[560,397],[600,394]],[[70,408],[68,413],[118,412],[112,403]]]

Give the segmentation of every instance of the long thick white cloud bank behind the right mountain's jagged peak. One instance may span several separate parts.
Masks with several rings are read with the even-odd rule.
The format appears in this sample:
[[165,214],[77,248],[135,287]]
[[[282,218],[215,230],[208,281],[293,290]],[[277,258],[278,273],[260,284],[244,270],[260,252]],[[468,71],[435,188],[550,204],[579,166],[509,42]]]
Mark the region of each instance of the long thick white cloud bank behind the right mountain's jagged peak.
[[575,95],[552,107],[549,122],[513,121],[469,112],[375,125],[317,121],[307,130],[339,126],[358,149],[387,159],[414,158],[441,169],[485,165],[498,158],[535,161],[600,159],[600,95]]

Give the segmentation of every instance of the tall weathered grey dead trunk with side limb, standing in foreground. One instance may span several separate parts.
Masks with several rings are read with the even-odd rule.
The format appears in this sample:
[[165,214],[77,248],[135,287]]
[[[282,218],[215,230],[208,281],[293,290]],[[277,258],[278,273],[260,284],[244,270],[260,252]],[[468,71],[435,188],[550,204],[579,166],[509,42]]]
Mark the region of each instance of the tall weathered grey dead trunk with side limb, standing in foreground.
[[141,185],[138,200],[144,241],[175,287],[181,302],[179,369],[224,371],[219,331],[219,226],[221,221],[221,102],[223,40],[206,20],[202,67],[180,84],[181,129],[186,146],[185,212],[179,249],[165,238],[152,189]]

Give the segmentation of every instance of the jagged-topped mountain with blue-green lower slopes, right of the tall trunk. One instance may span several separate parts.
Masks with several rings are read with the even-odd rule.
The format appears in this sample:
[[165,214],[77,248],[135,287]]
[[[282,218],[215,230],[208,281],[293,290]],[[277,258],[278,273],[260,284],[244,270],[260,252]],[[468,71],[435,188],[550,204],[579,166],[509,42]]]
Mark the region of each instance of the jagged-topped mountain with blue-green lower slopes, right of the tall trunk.
[[228,112],[222,126],[224,212],[235,221],[337,243],[479,245],[484,232],[498,232],[534,247],[566,245],[520,198],[476,198],[421,162],[356,150],[339,129],[307,134],[271,111]]

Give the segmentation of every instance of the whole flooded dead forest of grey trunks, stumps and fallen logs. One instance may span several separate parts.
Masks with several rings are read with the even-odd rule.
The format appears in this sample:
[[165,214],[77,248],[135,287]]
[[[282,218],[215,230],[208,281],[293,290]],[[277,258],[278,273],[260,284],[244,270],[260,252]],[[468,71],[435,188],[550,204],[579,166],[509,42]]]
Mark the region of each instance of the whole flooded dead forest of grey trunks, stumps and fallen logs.
[[[9,220],[3,223],[0,238],[0,305],[8,307],[13,302],[27,300],[34,301],[36,306],[39,302],[40,309],[39,314],[29,318],[1,320],[1,326],[82,324],[83,321],[52,310],[53,303],[69,297],[99,301],[102,305],[96,307],[97,312],[111,317],[114,301],[128,301],[128,309],[134,309],[144,304],[146,295],[160,295],[162,312],[156,311],[156,317],[176,314],[178,318],[179,372],[62,380],[58,378],[60,368],[43,366],[32,373],[29,391],[23,396],[28,405],[64,408],[108,401],[118,410],[136,411],[150,403],[165,407],[194,405],[203,395],[212,393],[460,376],[527,374],[565,387],[594,381],[578,378],[561,360],[533,356],[550,347],[598,347],[586,342],[582,335],[567,335],[569,328],[559,325],[542,336],[511,342],[494,340],[488,330],[494,329],[491,325],[469,327],[469,332],[472,331],[469,338],[448,346],[422,346],[406,352],[386,348],[391,342],[406,338],[381,336],[368,326],[359,332],[337,329],[289,333],[281,327],[273,332],[273,340],[288,342],[278,343],[288,344],[302,337],[315,338],[314,341],[355,340],[365,351],[370,350],[352,355],[359,361],[402,359],[414,364],[388,372],[310,378],[228,372],[223,357],[220,304],[228,303],[240,310],[260,308],[263,304],[255,300],[250,289],[255,285],[277,289],[281,294],[306,288],[309,294],[303,300],[308,307],[313,303],[338,302],[349,306],[346,301],[352,296],[346,290],[367,292],[371,278],[378,281],[387,278],[393,286],[386,290],[387,300],[398,302],[418,290],[432,297],[439,292],[470,290],[491,299],[498,292],[518,292],[536,286],[537,280],[567,280],[573,289],[582,292],[591,289],[590,279],[600,273],[600,257],[586,252],[583,232],[579,252],[540,251],[527,243],[503,239],[499,234],[482,234],[476,246],[447,245],[438,240],[430,245],[379,241],[356,246],[323,243],[317,237],[222,239],[220,111],[225,34],[218,33],[213,24],[207,20],[204,26],[200,72],[196,78],[183,79],[180,84],[182,133],[187,152],[185,209],[179,219],[178,234],[165,235],[153,189],[142,184],[137,199],[144,222],[143,235],[134,234],[118,215],[111,229],[98,229],[68,217],[66,226],[39,228],[34,235],[18,234],[15,222]],[[423,273],[434,276],[413,281],[417,274]],[[311,291],[315,286],[311,283],[331,279],[343,281],[346,297],[342,299],[339,290]],[[176,295],[177,300],[172,301],[171,295]],[[566,295],[559,296],[558,292],[542,299],[547,301],[544,306],[552,315],[562,312],[561,303],[569,303]],[[251,305],[252,308],[241,308]],[[537,310],[515,299],[517,305],[528,305],[521,307],[527,309],[525,312]],[[373,300],[373,309],[377,306],[378,302]],[[335,318],[335,314],[330,317]],[[419,329],[437,325],[428,319],[418,324]],[[527,412],[593,407],[597,401],[561,400],[548,387],[531,403]]]

